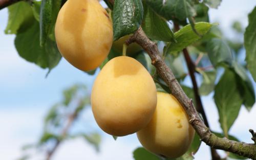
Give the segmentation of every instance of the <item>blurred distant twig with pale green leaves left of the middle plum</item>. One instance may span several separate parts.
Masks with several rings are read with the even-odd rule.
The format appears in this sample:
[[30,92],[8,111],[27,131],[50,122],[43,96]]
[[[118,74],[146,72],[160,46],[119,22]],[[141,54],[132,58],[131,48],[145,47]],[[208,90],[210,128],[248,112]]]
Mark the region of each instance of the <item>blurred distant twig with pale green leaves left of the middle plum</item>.
[[29,159],[31,150],[45,152],[46,159],[50,159],[59,145],[68,139],[83,138],[87,143],[99,151],[101,136],[98,132],[87,129],[86,132],[70,133],[74,123],[79,123],[79,117],[84,108],[90,107],[90,92],[87,86],[75,84],[63,90],[62,101],[54,104],[44,120],[42,134],[35,144],[23,147],[24,155],[20,160]]

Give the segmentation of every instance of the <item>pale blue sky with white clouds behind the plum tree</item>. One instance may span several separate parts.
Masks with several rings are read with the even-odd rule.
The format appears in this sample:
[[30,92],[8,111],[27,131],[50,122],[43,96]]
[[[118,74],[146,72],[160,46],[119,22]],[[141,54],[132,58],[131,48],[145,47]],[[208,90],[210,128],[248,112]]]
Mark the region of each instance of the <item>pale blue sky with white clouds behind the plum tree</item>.
[[[248,24],[247,14],[253,9],[256,2],[253,0],[223,0],[218,10],[210,9],[210,21],[219,22],[225,35],[232,38],[230,31],[231,22],[239,20],[243,27]],[[41,133],[42,120],[47,110],[55,102],[61,100],[63,89],[74,83],[83,83],[91,86],[95,76],[89,76],[70,65],[62,58],[47,78],[47,70],[42,70],[33,63],[20,58],[14,47],[14,35],[5,35],[7,25],[7,9],[0,10],[0,155],[1,159],[16,159],[21,155],[20,148],[24,144],[37,141]],[[190,83],[189,79],[187,80]],[[254,83],[255,86],[255,83]],[[203,98],[206,114],[210,120],[210,126],[220,131],[218,113],[212,102],[212,95]],[[230,130],[231,134],[245,142],[250,141],[249,128],[256,130],[256,107],[247,112],[242,107],[240,116]],[[82,120],[90,122],[94,130],[98,127],[93,119],[92,112],[88,109]],[[80,126],[79,127],[83,127]],[[77,139],[67,141],[61,145],[53,157],[53,160],[65,159],[133,159],[132,151],[140,146],[135,134],[119,138],[113,141],[110,135],[101,132],[103,143],[101,152]],[[43,155],[35,153],[34,159]],[[209,150],[201,147],[196,154],[196,159],[209,159]]]

